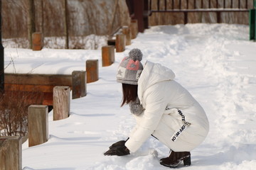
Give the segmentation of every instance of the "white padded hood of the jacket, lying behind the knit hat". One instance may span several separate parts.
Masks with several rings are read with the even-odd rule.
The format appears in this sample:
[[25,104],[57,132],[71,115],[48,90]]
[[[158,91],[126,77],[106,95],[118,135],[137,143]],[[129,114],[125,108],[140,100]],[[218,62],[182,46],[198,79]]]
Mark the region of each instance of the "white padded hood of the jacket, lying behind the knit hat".
[[138,81],[139,99],[142,100],[144,91],[150,86],[161,81],[173,80],[174,78],[175,74],[171,69],[164,67],[159,63],[147,61]]

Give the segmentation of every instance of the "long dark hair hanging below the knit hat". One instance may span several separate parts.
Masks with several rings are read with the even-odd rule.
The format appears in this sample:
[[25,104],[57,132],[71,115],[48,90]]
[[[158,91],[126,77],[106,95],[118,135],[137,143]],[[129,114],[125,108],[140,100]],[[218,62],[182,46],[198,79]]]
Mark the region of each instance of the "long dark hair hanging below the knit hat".
[[131,101],[135,101],[138,94],[138,85],[132,84],[122,84],[123,98],[122,105],[130,103]]

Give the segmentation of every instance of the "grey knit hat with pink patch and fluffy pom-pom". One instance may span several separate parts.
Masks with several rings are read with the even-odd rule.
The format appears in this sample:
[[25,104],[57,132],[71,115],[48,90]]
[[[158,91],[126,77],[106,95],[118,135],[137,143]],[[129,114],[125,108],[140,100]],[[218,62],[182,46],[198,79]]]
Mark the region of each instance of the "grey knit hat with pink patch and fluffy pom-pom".
[[129,52],[128,57],[124,57],[117,69],[117,82],[123,84],[138,84],[138,79],[142,73],[142,52],[134,48]]

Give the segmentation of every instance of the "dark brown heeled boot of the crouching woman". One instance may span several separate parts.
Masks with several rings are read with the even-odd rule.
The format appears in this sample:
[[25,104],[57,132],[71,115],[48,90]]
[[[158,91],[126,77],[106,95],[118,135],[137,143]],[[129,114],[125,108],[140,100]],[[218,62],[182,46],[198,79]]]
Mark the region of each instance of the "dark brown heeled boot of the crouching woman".
[[160,164],[169,168],[176,168],[183,161],[184,166],[191,165],[191,153],[190,152],[174,152],[171,151],[169,157],[160,159]]

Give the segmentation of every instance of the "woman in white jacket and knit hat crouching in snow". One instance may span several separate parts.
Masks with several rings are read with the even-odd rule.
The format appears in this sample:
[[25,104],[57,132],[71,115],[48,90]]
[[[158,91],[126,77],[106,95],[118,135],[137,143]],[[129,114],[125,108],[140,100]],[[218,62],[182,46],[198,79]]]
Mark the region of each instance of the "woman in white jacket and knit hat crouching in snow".
[[122,83],[122,106],[129,104],[137,125],[127,141],[114,143],[105,155],[123,156],[136,152],[153,135],[171,149],[160,164],[176,167],[183,161],[191,165],[190,151],[203,142],[209,124],[200,104],[174,81],[171,69],[147,61],[142,66],[142,52],[133,49],[117,70]]

